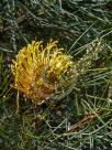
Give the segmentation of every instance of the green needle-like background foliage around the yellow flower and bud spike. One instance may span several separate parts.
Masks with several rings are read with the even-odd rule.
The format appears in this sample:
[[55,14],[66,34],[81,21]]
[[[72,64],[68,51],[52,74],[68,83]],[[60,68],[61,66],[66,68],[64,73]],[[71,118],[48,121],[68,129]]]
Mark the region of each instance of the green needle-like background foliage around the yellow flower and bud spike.
[[[0,2],[1,150],[112,149],[111,32],[111,0]],[[77,61],[96,38],[102,53],[65,98],[34,106],[11,89],[10,63],[26,43],[58,40]]]

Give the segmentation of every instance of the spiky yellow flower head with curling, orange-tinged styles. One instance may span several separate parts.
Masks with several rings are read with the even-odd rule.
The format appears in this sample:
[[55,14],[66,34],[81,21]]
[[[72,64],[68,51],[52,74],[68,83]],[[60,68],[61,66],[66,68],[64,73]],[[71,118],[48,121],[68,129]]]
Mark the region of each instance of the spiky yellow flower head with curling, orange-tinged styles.
[[38,104],[61,94],[71,84],[74,63],[57,47],[57,41],[51,40],[45,47],[42,41],[33,41],[12,60],[11,71],[12,86]]

